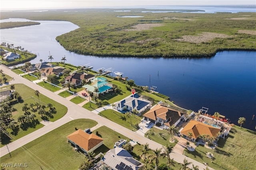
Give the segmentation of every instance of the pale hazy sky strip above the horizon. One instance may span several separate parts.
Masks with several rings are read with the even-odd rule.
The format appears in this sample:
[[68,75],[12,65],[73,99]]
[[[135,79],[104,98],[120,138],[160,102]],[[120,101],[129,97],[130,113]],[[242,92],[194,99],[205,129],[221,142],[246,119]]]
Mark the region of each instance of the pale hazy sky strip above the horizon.
[[162,5],[255,5],[255,0],[0,0],[0,10],[130,8]]

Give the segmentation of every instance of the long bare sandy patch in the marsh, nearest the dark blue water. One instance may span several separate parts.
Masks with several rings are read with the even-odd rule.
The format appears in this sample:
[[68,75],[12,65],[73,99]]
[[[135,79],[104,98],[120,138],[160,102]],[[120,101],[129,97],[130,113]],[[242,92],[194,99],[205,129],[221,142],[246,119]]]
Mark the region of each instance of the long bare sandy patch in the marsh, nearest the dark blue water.
[[182,36],[182,38],[178,38],[175,40],[186,41],[186,42],[190,42],[190,43],[202,43],[202,42],[207,42],[207,41],[213,40],[214,38],[228,38],[228,37],[231,37],[231,36],[222,34],[222,33],[204,32],[204,33],[198,34],[198,36],[184,35],[184,36]]

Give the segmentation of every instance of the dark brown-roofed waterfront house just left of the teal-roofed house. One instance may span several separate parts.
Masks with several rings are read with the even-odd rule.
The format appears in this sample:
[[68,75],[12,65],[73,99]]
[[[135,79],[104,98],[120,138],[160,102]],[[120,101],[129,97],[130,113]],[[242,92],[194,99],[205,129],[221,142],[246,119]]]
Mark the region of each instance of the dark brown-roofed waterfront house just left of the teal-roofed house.
[[82,83],[82,80],[86,80],[86,82],[89,82],[90,80],[93,80],[95,78],[92,74],[81,74],[81,73],[73,73],[66,77],[65,82],[72,82],[75,86],[79,86]]

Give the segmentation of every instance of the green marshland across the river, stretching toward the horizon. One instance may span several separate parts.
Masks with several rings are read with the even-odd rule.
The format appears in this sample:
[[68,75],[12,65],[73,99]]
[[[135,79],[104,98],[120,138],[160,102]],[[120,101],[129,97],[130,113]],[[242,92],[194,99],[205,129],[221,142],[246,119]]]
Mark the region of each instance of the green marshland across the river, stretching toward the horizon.
[[[30,20],[66,20],[80,28],[56,37],[68,51],[84,55],[117,57],[211,57],[222,50],[256,50],[256,13],[142,13],[143,9],[114,12],[117,9],[76,9],[44,13],[17,12]],[[120,9],[122,10],[122,9]],[[125,9],[127,10],[127,9]],[[1,13],[1,18],[18,14]],[[4,15],[4,16],[3,16]],[[120,18],[117,16],[143,16]],[[238,19],[237,19],[238,18]],[[144,23],[162,24],[148,30],[126,31]],[[243,30],[241,33],[240,30]],[[252,31],[253,33],[245,33]],[[177,41],[183,36],[202,39],[200,43]],[[208,39],[209,38],[209,39]]]

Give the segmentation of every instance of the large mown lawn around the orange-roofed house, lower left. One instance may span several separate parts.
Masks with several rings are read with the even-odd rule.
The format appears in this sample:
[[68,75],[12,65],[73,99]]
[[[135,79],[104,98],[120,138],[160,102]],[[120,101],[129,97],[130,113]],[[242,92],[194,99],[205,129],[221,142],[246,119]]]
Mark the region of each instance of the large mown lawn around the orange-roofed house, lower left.
[[[96,124],[97,122],[91,119],[70,121],[23,147],[10,152],[11,158],[9,154],[2,156],[1,163],[27,163],[28,168],[23,168],[24,170],[77,170],[78,166],[85,161],[85,156],[81,152],[76,152],[74,148],[68,144],[66,136],[76,131],[75,128],[91,128]],[[99,133],[102,134],[100,131]]]

